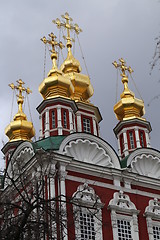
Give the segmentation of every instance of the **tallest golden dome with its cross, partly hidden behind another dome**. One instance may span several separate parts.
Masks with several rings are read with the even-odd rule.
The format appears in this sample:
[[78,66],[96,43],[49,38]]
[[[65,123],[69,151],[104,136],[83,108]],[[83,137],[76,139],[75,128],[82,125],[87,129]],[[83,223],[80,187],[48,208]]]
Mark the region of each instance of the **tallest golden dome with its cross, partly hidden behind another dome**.
[[67,40],[66,47],[68,49],[67,58],[62,63],[60,69],[63,72],[65,78],[70,79],[74,92],[71,94],[71,99],[75,101],[88,102],[89,98],[93,95],[93,87],[90,83],[88,76],[81,74],[81,66],[77,59],[74,58],[71,48],[73,39],[70,36],[71,31],[74,31],[77,35],[82,32],[78,24],[73,24],[73,19],[66,12],[62,15],[63,20],[53,20],[53,23],[57,25],[57,28],[64,28],[67,31],[67,35],[64,38]]

